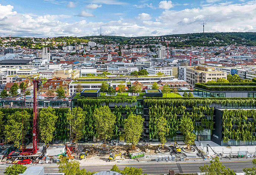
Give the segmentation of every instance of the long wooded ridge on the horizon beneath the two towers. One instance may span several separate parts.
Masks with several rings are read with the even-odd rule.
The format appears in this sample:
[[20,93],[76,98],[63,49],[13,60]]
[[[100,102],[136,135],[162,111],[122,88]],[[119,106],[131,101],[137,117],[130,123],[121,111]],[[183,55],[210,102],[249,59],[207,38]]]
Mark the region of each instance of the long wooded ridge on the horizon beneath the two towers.
[[[121,37],[121,36],[86,36],[81,37],[101,44],[160,44],[161,41],[171,41],[171,47],[184,46],[256,46],[256,33],[189,33],[166,36]],[[163,43],[162,43],[163,44]]]

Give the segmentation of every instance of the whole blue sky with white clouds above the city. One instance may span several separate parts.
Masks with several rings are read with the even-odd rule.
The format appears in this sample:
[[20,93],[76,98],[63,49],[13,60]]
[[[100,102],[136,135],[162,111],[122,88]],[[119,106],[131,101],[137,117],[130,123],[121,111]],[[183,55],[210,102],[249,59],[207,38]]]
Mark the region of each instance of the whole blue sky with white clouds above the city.
[[256,0],[0,0],[0,36],[256,32]]

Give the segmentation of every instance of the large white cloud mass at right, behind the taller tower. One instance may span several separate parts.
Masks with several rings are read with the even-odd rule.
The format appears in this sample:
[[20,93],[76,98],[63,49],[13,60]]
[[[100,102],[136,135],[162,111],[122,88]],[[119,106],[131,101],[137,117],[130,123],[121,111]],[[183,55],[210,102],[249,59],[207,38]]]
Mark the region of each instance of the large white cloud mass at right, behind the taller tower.
[[[165,10],[157,21],[163,27],[170,27],[173,33],[237,32],[256,31],[256,3],[243,4],[211,4],[202,8],[184,9],[180,11]],[[246,26],[252,27],[246,27]]]

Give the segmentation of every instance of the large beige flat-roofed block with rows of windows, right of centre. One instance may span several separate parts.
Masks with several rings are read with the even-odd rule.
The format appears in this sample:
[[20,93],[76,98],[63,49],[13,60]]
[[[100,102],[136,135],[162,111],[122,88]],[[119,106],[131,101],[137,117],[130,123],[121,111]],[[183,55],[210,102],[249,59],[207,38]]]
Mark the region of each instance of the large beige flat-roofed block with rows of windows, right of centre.
[[218,78],[227,79],[227,73],[223,71],[216,71],[214,67],[187,67],[186,81],[189,85],[194,86],[196,83],[207,83]]

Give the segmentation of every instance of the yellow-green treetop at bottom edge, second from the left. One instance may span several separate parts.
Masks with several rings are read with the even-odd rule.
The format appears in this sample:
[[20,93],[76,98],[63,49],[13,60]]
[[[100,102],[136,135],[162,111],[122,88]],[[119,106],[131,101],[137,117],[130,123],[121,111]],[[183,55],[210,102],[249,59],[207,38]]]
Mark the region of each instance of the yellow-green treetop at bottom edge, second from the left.
[[79,172],[79,162],[63,157],[57,163],[59,166],[59,172],[64,173],[65,175],[76,175]]

